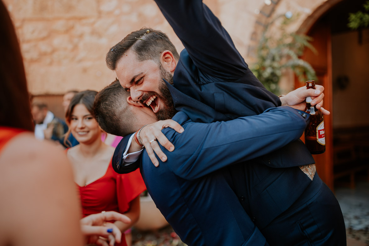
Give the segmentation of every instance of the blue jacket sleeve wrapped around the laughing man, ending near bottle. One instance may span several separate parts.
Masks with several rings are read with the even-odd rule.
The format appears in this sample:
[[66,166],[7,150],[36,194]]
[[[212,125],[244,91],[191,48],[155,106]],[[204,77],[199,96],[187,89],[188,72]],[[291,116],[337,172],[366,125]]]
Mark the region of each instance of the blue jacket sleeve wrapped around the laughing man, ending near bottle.
[[[179,113],[184,114],[184,113]],[[175,118],[173,118],[175,119]],[[308,116],[290,107],[277,107],[263,114],[210,124],[187,121],[184,132],[163,132],[176,146],[163,165],[184,179],[197,179],[230,164],[265,155],[299,139]],[[280,166],[283,167],[283,166]]]

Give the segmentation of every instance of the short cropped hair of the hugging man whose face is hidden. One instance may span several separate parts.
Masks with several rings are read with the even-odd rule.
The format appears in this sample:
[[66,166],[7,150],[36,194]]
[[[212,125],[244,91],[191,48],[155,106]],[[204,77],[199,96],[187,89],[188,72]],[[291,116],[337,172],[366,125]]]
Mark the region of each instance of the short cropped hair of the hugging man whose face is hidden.
[[103,131],[116,136],[136,131],[136,118],[127,103],[128,96],[130,93],[124,90],[118,79],[97,93],[94,114]]

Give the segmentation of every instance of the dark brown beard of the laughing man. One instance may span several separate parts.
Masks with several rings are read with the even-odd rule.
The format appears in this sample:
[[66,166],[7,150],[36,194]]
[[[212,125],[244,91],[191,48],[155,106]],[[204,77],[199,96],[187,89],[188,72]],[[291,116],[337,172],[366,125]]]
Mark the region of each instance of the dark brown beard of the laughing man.
[[160,66],[160,76],[162,79],[159,81],[160,95],[158,96],[164,107],[155,114],[158,121],[171,119],[177,113],[177,110],[174,107],[172,95],[170,94],[168,86],[166,86],[164,82],[165,79],[169,84],[173,84],[173,75]]

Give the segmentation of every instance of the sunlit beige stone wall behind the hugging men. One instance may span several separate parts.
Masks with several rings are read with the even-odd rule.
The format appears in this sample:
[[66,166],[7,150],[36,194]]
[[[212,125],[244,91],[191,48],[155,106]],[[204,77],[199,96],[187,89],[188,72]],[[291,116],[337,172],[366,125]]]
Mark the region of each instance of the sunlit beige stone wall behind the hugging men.
[[[105,65],[108,49],[143,26],[166,32],[178,51],[183,48],[152,0],[3,1],[20,39],[32,94],[62,94],[70,89],[100,90],[115,79],[115,73]],[[290,29],[299,30],[326,1],[204,2],[220,18],[246,62],[252,63],[266,22],[291,11],[299,16]],[[284,86],[290,88],[292,77],[286,78]]]

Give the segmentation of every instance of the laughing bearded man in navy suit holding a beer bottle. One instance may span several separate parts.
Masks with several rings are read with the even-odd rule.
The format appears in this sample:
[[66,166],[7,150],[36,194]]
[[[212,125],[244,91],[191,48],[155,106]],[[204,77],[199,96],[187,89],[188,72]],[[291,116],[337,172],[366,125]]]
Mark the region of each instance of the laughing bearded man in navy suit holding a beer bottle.
[[[132,105],[136,102],[146,104],[159,119],[170,118],[175,111],[170,110],[168,106],[170,100],[167,101],[166,98],[169,94],[176,109],[184,112],[192,123],[207,123],[258,115],[281,104],[295,104],[296,100],[292,98],[296,96],[301,99],[301,105],[304,104],[302,99],[308,96],[304,94],[305,91],[295,91],[282,97],[281,102],[278,97],[265,90],[248,69],[218,19],[201,1],[157,0],[156,3],[186,49],[181,52],[179,58],[174,46],[166,44],[167,37],[150,28],[132,32],[110,49],[107,65],[115,70],[121,85],[131,92],[129,101]],[[169,83],[163,84],[161,79]],[[320,100],[318,96],[313,104]],[[277,131],[280,128],[285,130],[285,135],[290,135],[288,128],[283,128],[283,125],[270,128],[271,123],[259,122],[251,129]],[[145,128],[142,132],[144,131]],[[235,128],[236,135],[237,131]],[[218,134],[222,135],[222,132]],[[175,142],[176,136],[170,137],[169,140]],[[283,137],[286,136],[280,136],[281,139]],[[156,148],[155,151],[158,150],[159,145],[154,139],[143,140],[148,151],[150,146]],[[258,154],[253,156],[258,158],[247,161],[228,159],[228,164],[233,165],[221,171],[227,185],[237,195],[238,202],[270,244],[297,245],[303,241],[316,245],[344,244],[342,213],[337,200],[315,173],[314,160],[310,153],[299,140],[291,143],[281,141],[284,143],[280,144],[282,148],[265,149],[261,146],[267,140],[255,139],[255,143],[251,145],[254,152],[261,150],[260,148],[268,151],[259,152],[260,157]],[[218,143],[221,146],[221,142]],[[181,143],[176,144],[181,146]],[[176,146],[176,151],[178,148]],[[250,146],[244,146],[245,150],[248,148]],[[220,151],[215,148],[214,150],[217,152],[208,153],[206,159],[203,159],[204,162],[199,164],[202,165],[199,167],[201,171],[214,171],[220,166],[223,167],[216,165],[215,160],[218,160]],[[169,152],[166,152],[167,156],[168,154]],[[227,154],[238,157],[242,155],[237,151]],[[128,170],[128,166],[121,165],[120,157],[117,160],[117,170]],[[152,160],[154,164],[158,164],[155,163],[155,156]],[[195,174],[202,175],[192,167],[193,165],[190,165],[189,169],[182,165],[179,167],[179,170],[184,172],[182,175],[186,174],[183,177],[192,179],[199,178]],[[320,197],[323,200],[319,200]],[[329,201],[330,207],[321,206],[325,201]],[[332,220],[331,224],[324,224],[332,213],[337,215],[336,220]],[[318,221],[317,218],[323,218],[323,222],[314,222]]]

